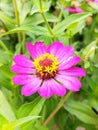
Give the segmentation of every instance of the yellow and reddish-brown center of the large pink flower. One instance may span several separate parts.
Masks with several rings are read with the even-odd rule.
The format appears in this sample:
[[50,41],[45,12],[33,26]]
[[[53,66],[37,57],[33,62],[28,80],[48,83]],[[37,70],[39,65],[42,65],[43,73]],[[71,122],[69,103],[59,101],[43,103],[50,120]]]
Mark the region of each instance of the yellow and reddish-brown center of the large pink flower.
[[34,59],[36,75],[42,79],[54,78],[58,71],[58,59],[53,54],[45,53]]

